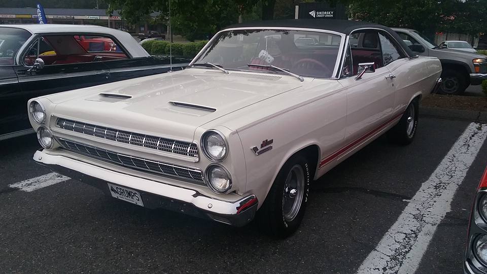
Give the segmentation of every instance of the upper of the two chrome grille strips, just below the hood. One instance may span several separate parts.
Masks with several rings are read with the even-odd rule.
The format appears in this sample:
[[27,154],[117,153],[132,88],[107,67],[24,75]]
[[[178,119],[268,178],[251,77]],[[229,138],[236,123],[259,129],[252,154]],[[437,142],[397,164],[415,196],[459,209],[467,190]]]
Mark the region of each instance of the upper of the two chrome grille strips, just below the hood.
[[118,129],[67,120],[64,118],[58,118],[56,121],[56,125],[59,128],[65,130],[71,130],[115,142],[157,149],[191,157],[198,157],[198,148],[193,143],[122,131]]

